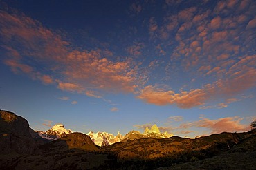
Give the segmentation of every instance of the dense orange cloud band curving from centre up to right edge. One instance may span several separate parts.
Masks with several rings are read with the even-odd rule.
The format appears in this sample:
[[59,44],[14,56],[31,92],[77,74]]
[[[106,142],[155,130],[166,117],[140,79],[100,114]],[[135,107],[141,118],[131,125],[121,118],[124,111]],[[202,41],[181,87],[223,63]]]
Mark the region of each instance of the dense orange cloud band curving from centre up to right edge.
[[[246,58],[240,59],[230,67],[229,72],[226,72],[227,78],[204,85],[200,89],[175,93],[169,89],[148,85],[140,91],[137,98],[154,105],[176,104],[183,109],[204,105],[208,100],[214,100],[216,98],[229,98],[246,89],[255,87],[256,79],[254,77],[256,77],[256,69],[252,66],[255,60],[256,56],[246,56]],[[241,67],[244,70],[234,74],[238,70],[240,71]],[[215,68],[213,69],[214,72],[219,70],[219,68]]]

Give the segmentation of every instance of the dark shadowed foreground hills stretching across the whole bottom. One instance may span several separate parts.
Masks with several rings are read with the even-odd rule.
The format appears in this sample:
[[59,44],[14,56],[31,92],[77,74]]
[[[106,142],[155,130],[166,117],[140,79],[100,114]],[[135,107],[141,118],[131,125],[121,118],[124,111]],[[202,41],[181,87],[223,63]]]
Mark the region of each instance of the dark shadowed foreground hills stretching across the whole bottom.
[[98,147],[81,133],[47,142],[21,116],[0,113],[0,169],[256,169],[256,129]]

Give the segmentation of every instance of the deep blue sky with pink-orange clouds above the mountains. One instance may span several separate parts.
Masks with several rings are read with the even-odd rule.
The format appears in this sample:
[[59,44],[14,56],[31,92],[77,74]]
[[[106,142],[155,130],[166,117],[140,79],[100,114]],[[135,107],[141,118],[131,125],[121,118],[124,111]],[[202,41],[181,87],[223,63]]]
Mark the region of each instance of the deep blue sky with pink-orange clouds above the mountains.
[[1,0],[0,109],[41,131],[248,131],[255,9],[253,0]]

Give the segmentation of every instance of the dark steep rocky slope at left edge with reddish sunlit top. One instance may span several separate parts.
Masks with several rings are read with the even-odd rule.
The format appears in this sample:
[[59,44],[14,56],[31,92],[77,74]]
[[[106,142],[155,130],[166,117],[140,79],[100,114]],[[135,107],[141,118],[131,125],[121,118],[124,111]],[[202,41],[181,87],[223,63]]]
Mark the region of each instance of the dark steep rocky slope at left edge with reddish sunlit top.
[[31,154],[38,151],[41,138],[28,121],[10,111],[0,110],[0,153]]

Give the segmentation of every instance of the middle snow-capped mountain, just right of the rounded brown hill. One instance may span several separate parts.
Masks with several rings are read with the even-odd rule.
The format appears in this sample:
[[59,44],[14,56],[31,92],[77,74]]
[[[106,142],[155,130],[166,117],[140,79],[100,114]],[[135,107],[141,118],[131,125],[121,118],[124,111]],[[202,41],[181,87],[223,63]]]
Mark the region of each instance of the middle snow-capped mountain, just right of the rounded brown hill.
[[113,134],[109,134],[107,132],[100,132],[93,133],[93,131],[90,131],[88,134],[86,134],[91,137],[91,140],[95,143],[95,145],[98,145],[100,147],[111,145],[116,142],[120,142],[122,140],[122,134],[118,131],[117,136],[113,136]]

